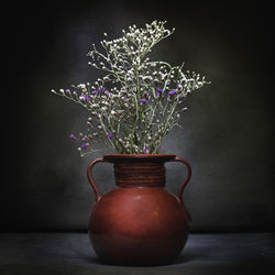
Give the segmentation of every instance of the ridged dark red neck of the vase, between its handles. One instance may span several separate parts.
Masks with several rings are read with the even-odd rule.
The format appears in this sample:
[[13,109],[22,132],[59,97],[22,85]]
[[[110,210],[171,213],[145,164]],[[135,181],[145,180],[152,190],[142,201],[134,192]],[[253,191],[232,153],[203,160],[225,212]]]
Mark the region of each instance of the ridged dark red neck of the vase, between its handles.
[[164,187],[165,167],[155,162],[114,163],[114,178],[120,187]]

